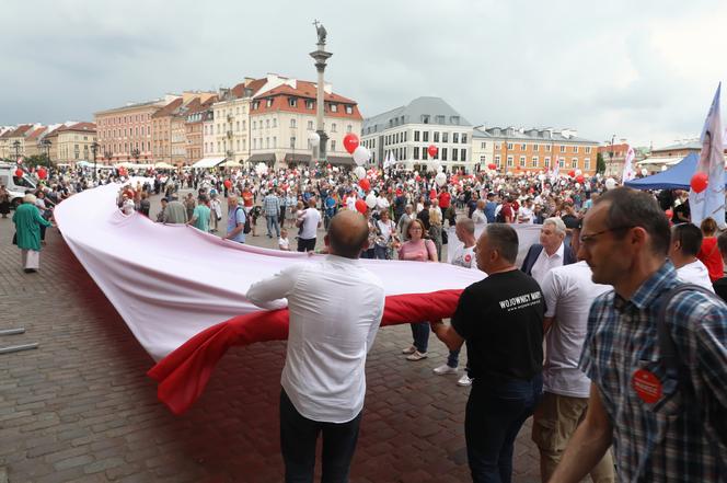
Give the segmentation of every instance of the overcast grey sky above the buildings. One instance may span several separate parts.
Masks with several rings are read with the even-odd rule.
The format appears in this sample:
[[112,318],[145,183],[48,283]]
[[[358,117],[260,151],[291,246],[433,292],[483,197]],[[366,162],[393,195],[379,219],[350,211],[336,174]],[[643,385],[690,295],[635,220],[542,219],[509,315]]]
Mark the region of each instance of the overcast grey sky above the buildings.
[[[727,79],[727,2],[3,0],[0,125],[93,120],[267,72],[326,81],[364,116],[419,95],[470,123],[637,146],[697,136]],[[724,107],[723,107],[724,111]]]

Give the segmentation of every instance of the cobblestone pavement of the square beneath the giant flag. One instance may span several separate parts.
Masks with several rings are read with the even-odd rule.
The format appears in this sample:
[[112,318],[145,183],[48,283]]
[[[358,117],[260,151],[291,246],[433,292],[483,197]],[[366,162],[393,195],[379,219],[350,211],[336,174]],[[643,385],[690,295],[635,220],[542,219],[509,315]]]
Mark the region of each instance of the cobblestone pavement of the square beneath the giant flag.
[[[155,208],[152,208],[152,214]],[[92,229],[92,227],[90,227]],[[41,272],[26,275],[0,219],[0,482],[279,482],[277,401],[285,343],[234,348],[197,404],[172,415],[145,376],[152,359],[81,267],[56,229]],[[292,230],[295,232],[295,230]],[[264,220],[252,244],[274,244]],[[292,237],[291,237],[292,244]],[[173,323],[173,321],[170,321]],[[408,363],[406,326],[380,332],[368,360],[368,393],[351,481],[465,482],[468,389],[436,376],[446,349]],[[516,446],[516,482],[538,481],[528,423]]]

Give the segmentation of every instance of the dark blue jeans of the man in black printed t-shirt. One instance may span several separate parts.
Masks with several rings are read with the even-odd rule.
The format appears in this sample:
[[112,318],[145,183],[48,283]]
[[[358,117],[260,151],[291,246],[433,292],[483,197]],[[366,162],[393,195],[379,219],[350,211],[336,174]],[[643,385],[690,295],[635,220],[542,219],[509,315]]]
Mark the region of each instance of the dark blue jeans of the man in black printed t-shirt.
[[474,379],[464,416],[464,438],[474,483],[510,483],[515,438],[542,393],[542,375],[529,381]]

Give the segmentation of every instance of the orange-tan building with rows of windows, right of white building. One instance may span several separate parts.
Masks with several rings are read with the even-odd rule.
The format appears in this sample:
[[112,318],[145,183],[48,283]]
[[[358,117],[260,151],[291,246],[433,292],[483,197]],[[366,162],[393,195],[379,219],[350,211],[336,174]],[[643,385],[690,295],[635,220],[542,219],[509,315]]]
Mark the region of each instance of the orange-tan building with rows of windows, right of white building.
[[574,129],[478,128],[493,142],[493,163],[501,172],[580,170],[596,173],[598,142],[578,137]]

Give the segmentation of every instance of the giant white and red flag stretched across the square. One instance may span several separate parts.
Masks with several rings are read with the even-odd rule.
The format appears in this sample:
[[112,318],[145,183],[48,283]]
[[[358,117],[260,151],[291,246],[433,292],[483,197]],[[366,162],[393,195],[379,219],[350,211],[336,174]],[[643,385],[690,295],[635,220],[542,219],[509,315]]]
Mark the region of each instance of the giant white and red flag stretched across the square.
[[[245,294],[254,281],[310,258],[125,216],[116,207],[119,187],[74,195],[56,207],[55,218],[83,267],[158,360],[149,375],[159,381],[160,400],[183,413],[229,347],[287,338],[287,310],[261,310]],[[361,264],[384,284],[382,326],[449,318],[461,290],[484,276],[443,263]]]

